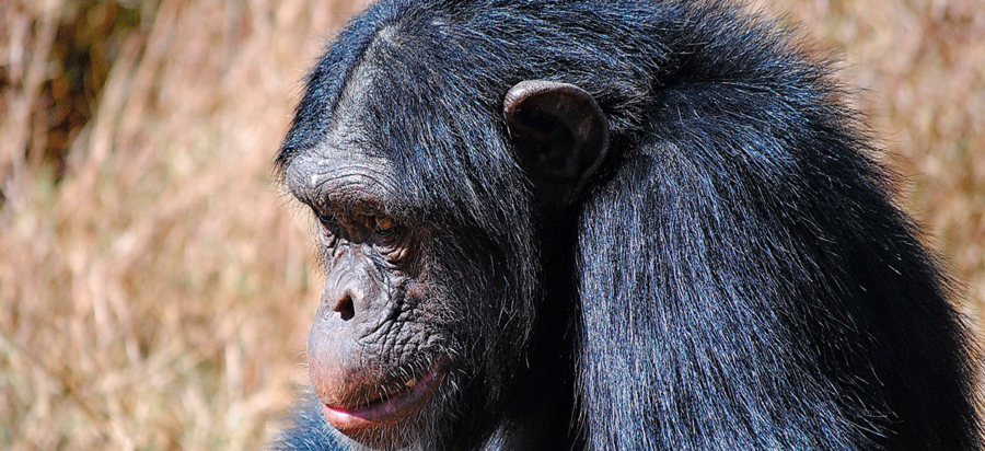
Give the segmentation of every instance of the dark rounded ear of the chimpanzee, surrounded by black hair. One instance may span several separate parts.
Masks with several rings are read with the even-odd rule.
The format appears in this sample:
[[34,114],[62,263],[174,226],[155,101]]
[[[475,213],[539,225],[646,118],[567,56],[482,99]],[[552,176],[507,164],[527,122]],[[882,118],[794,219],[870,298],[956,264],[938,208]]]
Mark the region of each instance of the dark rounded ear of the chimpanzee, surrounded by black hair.
[[609,123],[592,95],[573,84],[522,81],[507,93],[502,113],[538,196],[573,203],[609,147]]

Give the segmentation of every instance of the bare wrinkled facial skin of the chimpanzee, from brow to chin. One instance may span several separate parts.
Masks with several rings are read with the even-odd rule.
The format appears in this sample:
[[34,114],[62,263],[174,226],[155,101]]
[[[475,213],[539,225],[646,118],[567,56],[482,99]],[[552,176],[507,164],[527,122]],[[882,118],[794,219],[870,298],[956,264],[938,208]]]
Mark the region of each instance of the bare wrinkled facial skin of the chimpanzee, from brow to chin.
[[387,212],[382,163],[326,149],[287,172],[291,193],[318,219],[327,271],[309,335],[311,382],[339,431],[402,444],[451,365],[429,302],[428,227]]

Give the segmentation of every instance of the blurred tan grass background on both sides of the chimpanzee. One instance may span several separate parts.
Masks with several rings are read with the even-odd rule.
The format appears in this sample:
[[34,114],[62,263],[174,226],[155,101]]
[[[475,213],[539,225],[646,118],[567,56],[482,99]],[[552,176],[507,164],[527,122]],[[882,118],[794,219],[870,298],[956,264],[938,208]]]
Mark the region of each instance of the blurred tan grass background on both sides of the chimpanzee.
[[[901,204],[985,303],[981,0],[760,0],[844,62]],[[0,0],[0,449],[253,450],[306,380],[270,174],[361,1]]]

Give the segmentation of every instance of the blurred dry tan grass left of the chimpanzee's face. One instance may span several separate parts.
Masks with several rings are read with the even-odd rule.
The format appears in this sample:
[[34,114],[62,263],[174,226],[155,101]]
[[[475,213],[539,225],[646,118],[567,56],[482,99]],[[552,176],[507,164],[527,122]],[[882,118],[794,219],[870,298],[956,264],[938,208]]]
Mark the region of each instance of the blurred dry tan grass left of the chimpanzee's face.
[[355,8],[310,3],[0,9],[0,449],[267,438],[318,286],[270,163]]

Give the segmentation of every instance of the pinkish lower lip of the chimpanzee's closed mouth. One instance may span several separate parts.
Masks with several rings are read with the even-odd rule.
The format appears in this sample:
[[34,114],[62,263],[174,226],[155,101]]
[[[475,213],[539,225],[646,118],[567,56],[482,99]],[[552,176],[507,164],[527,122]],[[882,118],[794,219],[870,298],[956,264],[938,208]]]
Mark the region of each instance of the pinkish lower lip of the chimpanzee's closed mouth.
[[434,396],[440,382],[440,367],[434,366],[409,390],[393,396],[355,407],[325,404],[322,410],[328,424],[346,435],[374,426],[397,424],[419,412]]

